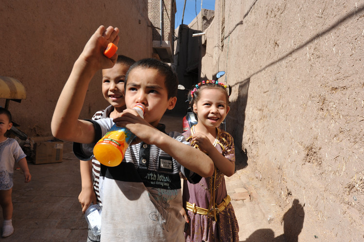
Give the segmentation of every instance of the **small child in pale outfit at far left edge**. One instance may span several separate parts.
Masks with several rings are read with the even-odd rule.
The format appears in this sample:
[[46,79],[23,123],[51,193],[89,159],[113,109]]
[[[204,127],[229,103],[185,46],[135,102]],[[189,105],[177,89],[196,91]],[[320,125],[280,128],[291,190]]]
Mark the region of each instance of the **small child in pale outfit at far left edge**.
[[6,131],[11,129],[11,113],[0,107],[0,205],[2,208],[2,237],[8,237],[14,233],[12,224],[14,164],[17,162],[24,173],[25,182],[30,182],[31,175],[28,168],[26,155],[15,139],[5,137]]

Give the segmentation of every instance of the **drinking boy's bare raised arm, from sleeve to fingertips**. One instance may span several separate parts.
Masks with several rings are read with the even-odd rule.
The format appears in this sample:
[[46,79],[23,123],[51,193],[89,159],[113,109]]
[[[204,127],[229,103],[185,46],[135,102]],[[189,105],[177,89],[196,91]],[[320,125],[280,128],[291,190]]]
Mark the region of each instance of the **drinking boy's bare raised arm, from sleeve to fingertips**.
[[93,125],[78,118],[92,77],[99,69],[111,68],[116,63],[117,55],[109,59],[103,55],[103,50],[110,42],[117,45],[118,32],[117,28],[110,26],[105,30],[100,26],[83,48],[53,113],[51,130],[54,137],[84,144],[93,142]]

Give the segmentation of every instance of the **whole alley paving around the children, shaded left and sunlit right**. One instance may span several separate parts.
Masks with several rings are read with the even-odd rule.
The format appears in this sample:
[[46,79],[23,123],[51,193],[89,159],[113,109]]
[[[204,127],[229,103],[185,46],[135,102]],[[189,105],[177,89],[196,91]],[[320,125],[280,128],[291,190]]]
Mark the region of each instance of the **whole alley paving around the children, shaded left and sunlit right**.
[[[182,129],[180,116],[165,115],[161,122],[166,124],[167,131]],[[21,170],[14,171],[15,232],[0,241],[85,241],[87,223],[78,202],[81,191],[79,162],[71,152],[71,143],[65,142],[60,163],[28,164],[32,174],[30,183],[23,182]],[[277,226],[279,219],[276,219],[280,211],[273,210],[268,193],[264,192],[264,196],[257,193],[249,174],[249,167],[237,166],[237,172],[226,177],[240,227],[240,240],[272,241],[276,236],[275,241],[284,241],[277,238],[283,233],[282,226]]]

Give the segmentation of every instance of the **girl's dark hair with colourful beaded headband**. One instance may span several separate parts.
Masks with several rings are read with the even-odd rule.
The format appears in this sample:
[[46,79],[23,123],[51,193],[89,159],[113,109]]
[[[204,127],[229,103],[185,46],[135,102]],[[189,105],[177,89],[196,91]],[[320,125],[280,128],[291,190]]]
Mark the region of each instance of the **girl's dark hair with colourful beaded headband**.
[[188,101],[190,103],[191,109],[193,110],[193,105],[197,103],[197,101],[199,100],[199,94],[201,90],[213,89],[213,88],[223,91],[226,94],[226,103],[229,104],[229,94],[227,91],[227,85],[215,80],[207,80],[199,82],[198,84],[194,85],[192,87],[191,92],[188,93]]

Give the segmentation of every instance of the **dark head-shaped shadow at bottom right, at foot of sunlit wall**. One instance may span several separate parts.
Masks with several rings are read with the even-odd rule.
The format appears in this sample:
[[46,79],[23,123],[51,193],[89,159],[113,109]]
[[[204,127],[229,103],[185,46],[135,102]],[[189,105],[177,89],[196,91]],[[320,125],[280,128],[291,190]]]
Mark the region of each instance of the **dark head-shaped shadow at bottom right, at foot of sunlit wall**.
[[252,233],[244,242],[298,242],[298,235],[303,227],[305,211],[299,204],[298,199],[293,200],[292,207],[284,213],[281,220],[284,233],[274,237],[274,232],[270,228],[258,229]]

